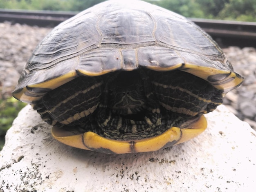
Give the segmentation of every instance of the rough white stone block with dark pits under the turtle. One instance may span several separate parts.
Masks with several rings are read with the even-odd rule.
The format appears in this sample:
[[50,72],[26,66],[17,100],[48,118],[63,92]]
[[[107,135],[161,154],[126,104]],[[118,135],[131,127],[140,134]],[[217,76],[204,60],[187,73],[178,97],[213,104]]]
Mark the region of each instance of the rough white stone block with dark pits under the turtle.
[[7,132],[0,152],[0,191],[254,191],[256,132],[222,105],[208,128],[157,152],[100,154],[55,141],[30,106]]

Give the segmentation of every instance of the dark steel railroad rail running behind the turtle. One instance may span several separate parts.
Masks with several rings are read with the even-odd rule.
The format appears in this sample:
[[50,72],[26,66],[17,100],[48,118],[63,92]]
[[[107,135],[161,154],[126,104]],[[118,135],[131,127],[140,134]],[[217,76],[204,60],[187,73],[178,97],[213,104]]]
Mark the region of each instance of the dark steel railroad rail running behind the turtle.
[[[0,9],[0,22],[54,27],[77,12]],[[190,18],[209,33],[221,47],[256,47],[256,22]]]

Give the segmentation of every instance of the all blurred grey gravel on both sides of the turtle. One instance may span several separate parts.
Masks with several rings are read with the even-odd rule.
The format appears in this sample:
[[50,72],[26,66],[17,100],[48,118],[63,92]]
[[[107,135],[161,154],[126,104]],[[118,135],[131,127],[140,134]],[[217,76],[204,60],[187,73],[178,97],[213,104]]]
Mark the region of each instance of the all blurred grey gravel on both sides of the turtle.
[[[8,98],[36,45],[52,28],[0,23],[0,99]],[[245,77],[242,86],[227,93],[223,103],[238,118],[256,129],[256,49],[223,49],[234,70]]]

